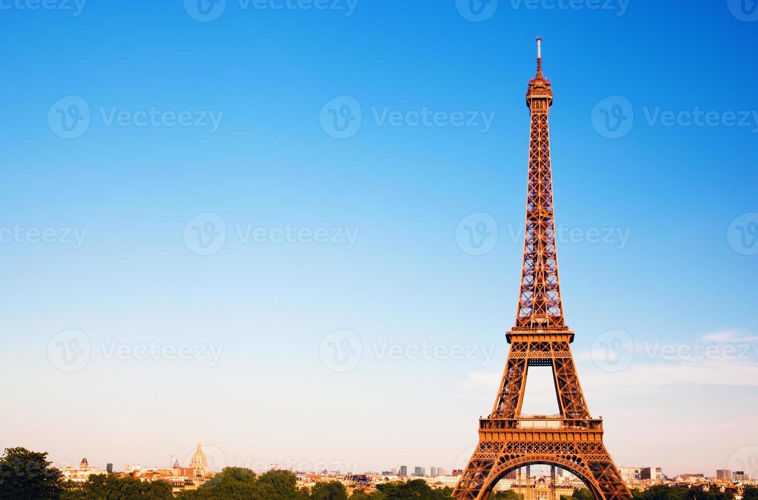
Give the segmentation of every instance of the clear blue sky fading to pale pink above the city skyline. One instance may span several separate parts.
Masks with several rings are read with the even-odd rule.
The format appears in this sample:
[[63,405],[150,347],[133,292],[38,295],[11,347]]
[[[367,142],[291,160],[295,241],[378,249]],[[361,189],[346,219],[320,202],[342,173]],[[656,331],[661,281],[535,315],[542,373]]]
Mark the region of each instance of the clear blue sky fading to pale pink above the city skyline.
[[514,321],[543,36],[590,411],[620,464],[738,468],[758,454],[746,2],[2,2],[0,446],[459,464]]

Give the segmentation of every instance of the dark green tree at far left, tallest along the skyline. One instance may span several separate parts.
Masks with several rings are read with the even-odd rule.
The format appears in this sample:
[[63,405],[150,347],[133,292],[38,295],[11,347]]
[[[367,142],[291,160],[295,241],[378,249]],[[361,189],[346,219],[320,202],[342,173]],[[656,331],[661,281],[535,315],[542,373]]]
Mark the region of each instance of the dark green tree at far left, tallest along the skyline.
[[50,467],[47,452],[6,448],[0,457],[0,498],[4,500],[57,500],[61,498],[61,471]]

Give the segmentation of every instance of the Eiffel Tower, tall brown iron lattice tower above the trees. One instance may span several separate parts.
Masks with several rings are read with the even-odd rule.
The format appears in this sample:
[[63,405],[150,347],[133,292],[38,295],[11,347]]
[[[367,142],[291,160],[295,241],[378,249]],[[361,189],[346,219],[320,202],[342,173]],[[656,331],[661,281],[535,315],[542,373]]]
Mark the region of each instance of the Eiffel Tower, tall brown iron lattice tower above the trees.
[[[553,105],[550,80],[542,74],[541,38],[537,38],[537,74],[529,81],[531,112],[524,261],[515,327],[495,405],[479,420],[479,444],[453,491],[459,500],[485,500],[506,474],[530,500],[530,466],[550,466],[555,493],[556,467],[579,477],[596,500],[628,500],[629,490],[603,444],[603,421],[592,418],[584,400],[570,344],[574,331],[565,325],[558,279],[550,134],[547,116]],[[559,415],[522,415],[530,366],[553,368]],[[522,485],[522,468],[526,483]]]

